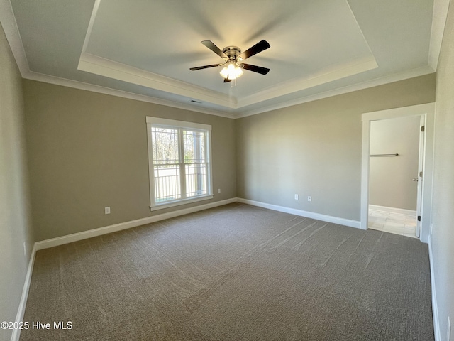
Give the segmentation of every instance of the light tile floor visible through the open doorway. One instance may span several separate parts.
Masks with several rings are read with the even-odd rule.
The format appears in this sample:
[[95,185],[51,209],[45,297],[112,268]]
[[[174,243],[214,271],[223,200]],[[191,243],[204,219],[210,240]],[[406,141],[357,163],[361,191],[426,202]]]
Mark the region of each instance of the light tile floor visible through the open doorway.
[[416,238],[416,217],[369,209],[370,229]]

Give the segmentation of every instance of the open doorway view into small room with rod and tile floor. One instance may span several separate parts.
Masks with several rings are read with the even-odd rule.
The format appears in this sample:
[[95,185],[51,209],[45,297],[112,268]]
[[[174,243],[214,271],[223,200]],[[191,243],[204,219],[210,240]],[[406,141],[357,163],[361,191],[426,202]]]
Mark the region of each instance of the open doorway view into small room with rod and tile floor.
[[419,116],[370,122],[369,229],[419,237],[420,130]]

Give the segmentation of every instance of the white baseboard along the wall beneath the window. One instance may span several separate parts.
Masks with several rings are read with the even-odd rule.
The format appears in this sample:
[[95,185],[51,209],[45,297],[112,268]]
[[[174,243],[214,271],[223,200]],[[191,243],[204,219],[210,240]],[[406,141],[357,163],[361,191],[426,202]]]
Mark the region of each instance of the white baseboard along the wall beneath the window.
[[112,232],[121,231],[123,229],[131,229],[132,227],[137,227],[140,225],[150,224],[152,222],[159,222],[160,220],[170,219],[174,217],[178,217],[180,215],[187,215],[189,213],[198,212],[201,210],[208,210],[209,208],[218,207],[222,205],[231,204],[232,202],[236,202],[236,197],[231,199],[210,202],[209,204],[199,205],[189,208],[184,208],[182,210],[162,213],[161,215],[153,215],[151,217],[146,217],[138,220],[131,220],[130,222],[121,222],[120,224],[114,224],[105,227],[99,227],[98,229],[89,229],[88,231],[78,232],[73,234],[68,234],[66,236],[46,239],[41,242],[35,242],[35,249],[36,251],[41,249],[48,249],[49,247],[57,247],[59,245],[68,244],[72,242],[77,242],[79,240],[88,239],[92,237],[98,237],[103,234],[109,234]]

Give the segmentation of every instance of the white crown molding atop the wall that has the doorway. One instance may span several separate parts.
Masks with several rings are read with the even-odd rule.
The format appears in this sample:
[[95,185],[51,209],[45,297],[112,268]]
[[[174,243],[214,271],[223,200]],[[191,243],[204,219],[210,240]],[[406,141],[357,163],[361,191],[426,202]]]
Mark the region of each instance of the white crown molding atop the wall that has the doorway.
[[400,73],[397,73],[397,74],[394,74],[394,75],[389,75],[389,76],[385,76],[385,77],[376,78],[375,80],[370,80],[370,81],[367,81],[367,82],[361,82],[361,83],[358,83],[358,84],[355,84],[355,85],[348,85],[346,87],[341,87],[341,88],[338,88],[338,89],[335,89],[335,90],[329,90],[329,91],[326,91],[326,92],[321,92],[319,94],[313,94],[311,96],[301,97],[300,99],[294,99],[292,101],[281,102],[281,103],[278,103],[278,104],[272,104],[272,105],[270,105],[268,107],[262,107],[262,108],[259,108],[259,109],[246,111],[246,112],[243,112],[243,113],[240,113],[240,114],[236,114],[235,118],[236,119],[240,119],[242,117],[253,116],[253,115],[256,115],[256,114],[262,114],[264,112],[270,112],[272,110],[282,109],[282,108],[285,108],[285,107],[292,107],[292,106],[297,105],[297,104],[303,104],[303,103],[306,103],[306,102],[312,102],[312,101],[316,101],[318,99],[323,99],[323,98],[337,96],[339,94],[346,94],[348,92],[354,92],[354,91],[358,91],[358,90],[367,89],[367,88],[370,88],[370,87],[377,87],[379,85],[385,85],[385,84],[392,83],[392,82],[399,82],[400,80],[407,80],[407,79],[413,78],[413,77],[419,77],[419,76],[423,76],[423,75],[428,75],[428,74],[431,74],[433,72],[435,72],[435,70],[433,70],[431,67],[428,67],[428,66],[427,67],[420,67],[420,68],[417,68],[417,69],[414,69],[414,70],[409,70],[409,71],[400,72]]

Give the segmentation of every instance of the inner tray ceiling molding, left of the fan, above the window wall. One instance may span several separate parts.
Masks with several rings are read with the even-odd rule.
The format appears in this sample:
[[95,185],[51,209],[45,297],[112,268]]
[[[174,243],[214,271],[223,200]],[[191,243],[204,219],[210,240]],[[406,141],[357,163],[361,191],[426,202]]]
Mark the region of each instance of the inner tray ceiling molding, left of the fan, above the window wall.
[[199,99],[202,102],[210,102],[230,109],[236,109],[236,102],[233,100],[233,97],[229,97],[226,94],[189,85],[179,80],[172,80],[169,77],[157,75],[153,72],[141,70],[137,67],[118,63],[97,55],[89,53],[81,55],[77,69],[135,85]]

